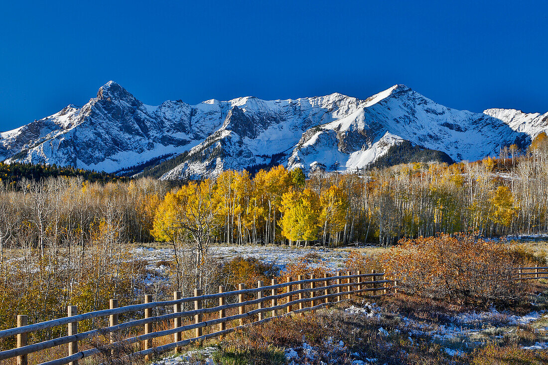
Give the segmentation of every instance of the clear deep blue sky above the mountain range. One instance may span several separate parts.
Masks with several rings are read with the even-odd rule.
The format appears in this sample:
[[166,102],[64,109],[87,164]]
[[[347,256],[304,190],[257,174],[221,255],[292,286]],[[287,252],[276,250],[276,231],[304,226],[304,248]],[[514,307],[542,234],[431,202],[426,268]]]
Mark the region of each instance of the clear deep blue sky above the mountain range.
[[0,130],[83,105],[110,79],[150,105],[358,98],[548,111],[546,1],[5,2]]

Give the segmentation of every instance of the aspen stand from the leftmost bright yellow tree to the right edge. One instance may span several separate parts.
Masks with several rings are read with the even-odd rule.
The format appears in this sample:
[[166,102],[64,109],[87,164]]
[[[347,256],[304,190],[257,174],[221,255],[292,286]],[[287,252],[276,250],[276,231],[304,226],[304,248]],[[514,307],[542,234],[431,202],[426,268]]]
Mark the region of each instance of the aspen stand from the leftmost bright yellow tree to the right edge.
[[208,210],[207,239],[214,243],[386,246],[437,232],[545,232],[546,145],[541,134],[528,150],[511,146],[499,158],[408,163],[359,174],[317,172],[307,180],[300,169],[282,166],[253,178],[246,171],[225,171],[169,192],[152,233],[159,240],[188,240],[191,229],[183,221],[195,217],[189,209],[197,209],[189,204]]

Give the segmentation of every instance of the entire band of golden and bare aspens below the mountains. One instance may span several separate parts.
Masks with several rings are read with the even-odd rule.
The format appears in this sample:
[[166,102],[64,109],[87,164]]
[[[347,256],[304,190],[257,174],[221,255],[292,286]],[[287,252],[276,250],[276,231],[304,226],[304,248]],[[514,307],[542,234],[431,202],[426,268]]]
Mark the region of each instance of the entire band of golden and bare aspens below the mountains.
[[[93,183],[83,176],[17,175],[0,180],[0,247],[41,249],[48,240],[85,246],[90,227],[109,209],[128,242],[195,239],[197,225],[207,232],[194,235],[211,243],[299,246],[388,245],[437,232],[546,232],[547,140],[541,134],[526,151],[510,146],[499,158],[471,163],[417,162],[349,174],[316,172],[308,179],[301,169],[283,166],[254,176],[228,170],[175,187],[151,178]],[[24,168],[0,164],[0,172]]]

